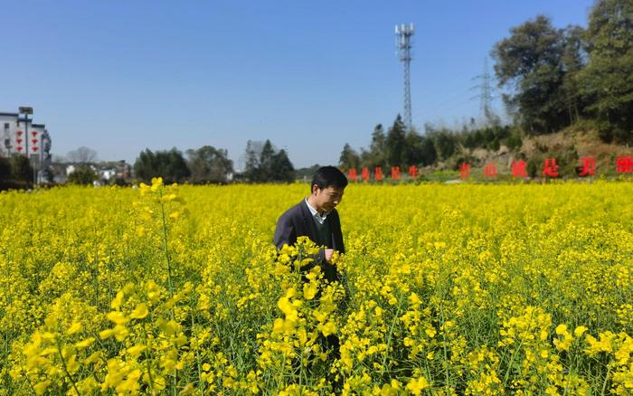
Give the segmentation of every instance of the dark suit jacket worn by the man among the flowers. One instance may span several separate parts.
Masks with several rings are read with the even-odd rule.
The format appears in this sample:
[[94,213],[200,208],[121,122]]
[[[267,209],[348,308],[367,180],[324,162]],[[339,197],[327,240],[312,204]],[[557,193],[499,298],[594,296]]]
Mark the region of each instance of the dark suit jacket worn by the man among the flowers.
[[[332,230],[332,242],[327,248],[338,250],[341,253],[345,253],[345,245],[343,244],[343,232],[341,231],[341,220],[338,217],[338,212],[335,209],[327,215],[326,222],[329,222],[330,229]],[[284,243],[288,245],[294,245],[297,242],[298,237],[306,236],[310,240],[316,242],[316,224],[312,217],[312,213],[307,208],[306,200],[301,200],[300,203],[291,207],[284,214],[279,217],[277,221],[277,229],[275,230],[275,246],[277,249],[281,249]],[[326,263],[326,250],[319,250],[318,254],[314,257],[314,262],[301,268],[301,270],[312,269],[315,265],[320,265],[324,270],[326,279],[335,280],[338,279],[336,268],[333,265]]]

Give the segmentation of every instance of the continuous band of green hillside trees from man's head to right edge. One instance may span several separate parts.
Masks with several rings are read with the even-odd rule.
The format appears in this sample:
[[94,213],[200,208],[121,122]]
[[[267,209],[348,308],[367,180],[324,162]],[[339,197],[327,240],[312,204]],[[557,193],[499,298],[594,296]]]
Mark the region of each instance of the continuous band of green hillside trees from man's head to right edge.
[[[633,143],[633,2],[599,0],[586,29],[555,28],[543,15],[510,30],[492,51],[498,87],[505,90],[510,125],[471,118],[461,130],[424,126],[407,130],[398,116],[387,131],[378,124],[371,144],[355,151],[345,144],[344,169],[375,166],[434,165],[457,169],[468,162],[468,149],[515,151],[523,138],[557,132],[584,123],[605,142]],[[570,159],[570,162],[573,158]]]

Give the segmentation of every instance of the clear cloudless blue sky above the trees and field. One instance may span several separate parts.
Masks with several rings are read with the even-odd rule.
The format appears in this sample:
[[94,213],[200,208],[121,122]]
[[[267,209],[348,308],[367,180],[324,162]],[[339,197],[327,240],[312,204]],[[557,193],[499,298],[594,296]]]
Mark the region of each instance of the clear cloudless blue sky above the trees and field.
[[239,167],[249,139],[269,138],[296,167],[336,164],[402,113],[395,24],[416,29],[413,124],[456,127],[479,116],[473,79],[511,27],[536,14],[585,26],[592,4],[3,1],[0,111],[33,106],[53,155],[211,145]]

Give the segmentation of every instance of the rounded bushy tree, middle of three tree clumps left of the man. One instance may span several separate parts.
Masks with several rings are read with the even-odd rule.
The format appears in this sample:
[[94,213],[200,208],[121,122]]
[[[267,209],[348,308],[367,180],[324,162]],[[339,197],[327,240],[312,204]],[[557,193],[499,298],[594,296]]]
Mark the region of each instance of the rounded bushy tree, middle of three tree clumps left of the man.
[[222,148],[202,146],[197,150],[187,150],[186,155],[192,183],[225,184],[233,173],[233,162],[228,157],[228,151]]

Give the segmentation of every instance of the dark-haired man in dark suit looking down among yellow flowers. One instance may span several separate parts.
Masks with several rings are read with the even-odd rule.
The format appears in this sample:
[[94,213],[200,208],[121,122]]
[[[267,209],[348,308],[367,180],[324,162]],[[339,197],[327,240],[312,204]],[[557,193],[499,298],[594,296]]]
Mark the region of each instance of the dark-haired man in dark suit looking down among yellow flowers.
[[340,280],[336,266],[332,264],[335,251],[345,253],[341,221],[335,207],[343,199],[347,186],[345,174],[335,166],[323,166],[316,171],[310,184],[310,195],[279,217],[275,230],[275,246],[294,245],[297,238],[307,236],[322,246],[314,261],[301,268],[307,271],[320,266],[324,278]]

